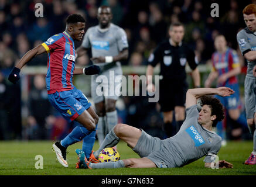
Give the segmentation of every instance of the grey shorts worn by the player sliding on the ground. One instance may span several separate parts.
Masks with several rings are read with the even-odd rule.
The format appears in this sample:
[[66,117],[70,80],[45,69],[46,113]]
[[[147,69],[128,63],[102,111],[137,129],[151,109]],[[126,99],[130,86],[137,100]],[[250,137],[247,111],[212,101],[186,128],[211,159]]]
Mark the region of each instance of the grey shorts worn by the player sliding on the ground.
[[154,151],[161,151],[162,140],[158,137],[150,136],[142,129],[141,131],[141,137],[139,137],[138,143],[132,150],[134,150],[135,153],[139,155],[139,157],[149,158],[149,160],[155,163],[156,167],[168,168],[168,165],[158,158],[148,157],[149,154],[153,153]]

